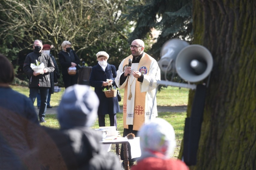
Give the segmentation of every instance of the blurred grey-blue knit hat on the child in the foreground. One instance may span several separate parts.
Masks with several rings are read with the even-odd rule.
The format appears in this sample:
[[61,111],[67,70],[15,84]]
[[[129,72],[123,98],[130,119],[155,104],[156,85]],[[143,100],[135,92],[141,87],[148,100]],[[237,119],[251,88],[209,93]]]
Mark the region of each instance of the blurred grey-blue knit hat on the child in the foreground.
[[75,126],[90,127],[97,118],[99,98],[90,86],[75,84],[69,86],[58,107],[61,129]]

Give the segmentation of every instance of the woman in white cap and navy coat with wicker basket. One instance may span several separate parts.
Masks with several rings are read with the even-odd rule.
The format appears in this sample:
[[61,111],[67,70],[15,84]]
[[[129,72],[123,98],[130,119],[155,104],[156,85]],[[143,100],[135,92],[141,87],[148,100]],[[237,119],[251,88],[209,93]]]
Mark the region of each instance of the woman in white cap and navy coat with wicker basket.
[[110,126],[115,126],[117,128],[116,113],[120,112],[117,96],[107,98],[102,91],[104,88],[108,89],[110,84],[112,84],[113,87],[115,86],[114,79],[117,76],[116,68],[114,65],[107,63],[109,55],[105,51],[99,51],[96,54],[96,57],[98,64],[92,68],[90,86],[94,87],[99,98],[99,127],[105,126],[105,115],[108,114]]

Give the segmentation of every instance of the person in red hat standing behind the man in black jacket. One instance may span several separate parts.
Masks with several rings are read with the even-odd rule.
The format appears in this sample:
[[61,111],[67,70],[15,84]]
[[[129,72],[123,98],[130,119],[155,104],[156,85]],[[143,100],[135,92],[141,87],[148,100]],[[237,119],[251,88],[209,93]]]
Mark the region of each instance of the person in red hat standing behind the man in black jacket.
[[[43,45],[42,52],[44,54],[50,55],[51,59],[53,60],[53,64],[55,68],[53,72],[50,72],[51,87],[49,89],[48,98],[47,98],[47,108],[53,108],[50,105],[50,100],[51,100],[51,95],[54,93],[54,84],[58,83],[58,78],[59,78],[59,68],[58,68],[55,57],[52,54],[50,54],[50,49],[51,49],[51,46],[49,44]],[[40,109],[40,105],[41,105],[40,93],[37,94],[36,99],[37,99],[37,108]]]

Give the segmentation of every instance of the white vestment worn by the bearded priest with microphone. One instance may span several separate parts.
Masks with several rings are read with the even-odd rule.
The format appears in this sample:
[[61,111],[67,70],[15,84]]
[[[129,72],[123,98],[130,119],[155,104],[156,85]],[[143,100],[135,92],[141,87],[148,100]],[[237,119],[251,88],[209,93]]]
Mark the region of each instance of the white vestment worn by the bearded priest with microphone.
[[[142,56],[144,57],[145,54]],[[142,59],[141,59],[142,60]],[[141,61],[140,60],[140,61]],[[124,72],[124,62],[127,61],[127,59],[123,60],[120,63],[120,66],[117,70],[117,77],[115,78],[115,82],[117,84],[117,87],[120,89],[127,88],[127,107],[123,106],[123,113],[127,113],[126,116],[126,122],[124,122],[124,125],[133,125],[134,122],[134,114],[138,113],[139,108],[135,108],[135,95],[140,92],[146,92],[145,95],[145,106],[142,106],[145,108],[145,118],[144,123],[148,122],[149,119],[154,119],[157,116],[157,99],[156,99],[156,93],[157,93],[157,81],[160,80],[160,68],[157,64],[157,61],[152,58],[152,61],[150,63],[149,69],[145,72],[148,72],[148,74],[144,74],[143,82],[139,83],[139,89],[140,92],[135,92],[136,90],[136,81],[137,78],[134,78],[132,73],[130,76],[127,76],[126,81],[120,85],[120,76],[123,76]],[[128,65],[128,63],[127,63]],[[139,71],[139,63],[132,63],[132,71]],[[128,80],[129,79],[129,80]],[[126,86],[128,84],[128,86]],[[130,89],[131,87],[131,89]],[[128,100],[129,93],[132,93],[131,100]],[[123,100],[125,102],[125,100]],[[126,110],[124,110],[126,109]],[[133,129],[133,130],[139,130],[139,129]]]

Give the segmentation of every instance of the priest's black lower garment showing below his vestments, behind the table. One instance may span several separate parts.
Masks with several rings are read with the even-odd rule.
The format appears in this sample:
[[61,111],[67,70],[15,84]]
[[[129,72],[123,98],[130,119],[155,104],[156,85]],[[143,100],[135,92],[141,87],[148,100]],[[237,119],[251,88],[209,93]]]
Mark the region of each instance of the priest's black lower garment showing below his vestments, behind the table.
[[[133,133],[135,137],[137,137],[138,130],[133,130],[133,125],[128,125],[128,129],[123,129],[123,137],[127,136],[129,133]],[[137,158],[131,159],[131,145],[128,143],[128,155],[129,155],[129,163],[135,162]],[[123,144],[120,149],[120,157],[121,160],[124,160],[123,156]]]

